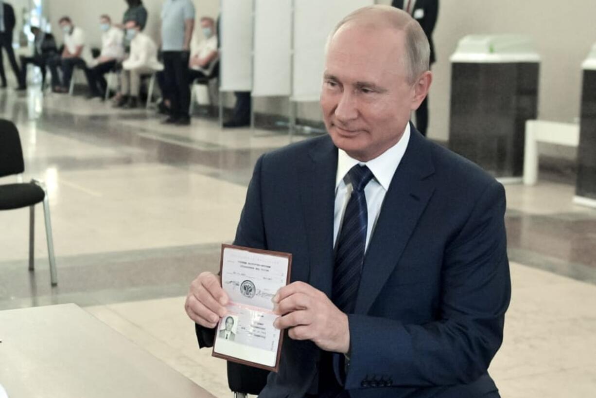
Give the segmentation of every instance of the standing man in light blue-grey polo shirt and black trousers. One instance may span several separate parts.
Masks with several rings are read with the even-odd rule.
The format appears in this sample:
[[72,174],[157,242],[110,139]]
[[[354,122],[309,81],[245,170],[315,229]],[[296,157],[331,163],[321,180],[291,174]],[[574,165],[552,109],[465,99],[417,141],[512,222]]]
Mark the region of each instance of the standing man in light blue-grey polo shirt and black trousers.
[[162,53],[166,84],[171,90],[170,116],[164,124],[190,125],[188,60],[194,30],[191,0],[166,0],[162,8]]

